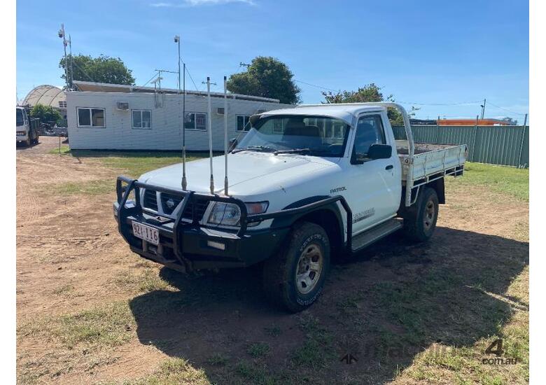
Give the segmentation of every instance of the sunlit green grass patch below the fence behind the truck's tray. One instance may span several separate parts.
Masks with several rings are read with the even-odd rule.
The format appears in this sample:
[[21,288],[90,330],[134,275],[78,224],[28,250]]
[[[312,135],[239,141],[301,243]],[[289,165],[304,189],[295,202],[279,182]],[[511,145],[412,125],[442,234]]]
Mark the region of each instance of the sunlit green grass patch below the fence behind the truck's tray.
[[466,186],[486,186],[497,193],[529,201],[529,170],[483,163],[465,164],[463,177],[457,183]]

